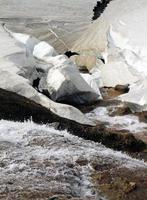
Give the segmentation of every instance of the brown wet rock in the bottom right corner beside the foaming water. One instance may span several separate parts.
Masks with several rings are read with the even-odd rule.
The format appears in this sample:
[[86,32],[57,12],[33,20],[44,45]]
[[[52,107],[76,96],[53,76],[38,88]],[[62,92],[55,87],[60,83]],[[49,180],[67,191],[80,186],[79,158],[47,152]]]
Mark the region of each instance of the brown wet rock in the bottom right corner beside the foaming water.
[[[93,178],[100,193],[110,200],[145,200],[146,170],[137,172],[127,168],[111,168],[93,173]],[[142,184],[143,183],[143,184]]]

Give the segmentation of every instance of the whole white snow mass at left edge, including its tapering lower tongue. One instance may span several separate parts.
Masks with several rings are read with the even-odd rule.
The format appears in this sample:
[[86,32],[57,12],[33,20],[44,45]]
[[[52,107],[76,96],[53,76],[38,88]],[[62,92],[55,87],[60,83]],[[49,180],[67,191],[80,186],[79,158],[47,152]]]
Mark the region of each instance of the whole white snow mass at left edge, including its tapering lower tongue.
[[[30,63],[23,63],[25,55],[24,48],[19,47],[15,39],[11,38],[2,26],[0,27],[0,36],[0,43],[3,45],[0,48],[0,88],[15,92],[21,96],[31,99],[60,117],[67,118],[81,124],[94,125],[94,123],[78,109],[69,105],[55,103],[34,89],[32,87],[31,78],[24,75],[24,68],[26,70],[26,74],[28,70],[34,70],[34,66],[29,65]],[[24,38],[26,37],[24,36]],[[24,44],[26,44],[26,41],[28,40],[24,40],[24,38],[23,41]],[[26,66],[24,66],[25,64]],[[24,73],[24,76],[22,76],[22,73]]]

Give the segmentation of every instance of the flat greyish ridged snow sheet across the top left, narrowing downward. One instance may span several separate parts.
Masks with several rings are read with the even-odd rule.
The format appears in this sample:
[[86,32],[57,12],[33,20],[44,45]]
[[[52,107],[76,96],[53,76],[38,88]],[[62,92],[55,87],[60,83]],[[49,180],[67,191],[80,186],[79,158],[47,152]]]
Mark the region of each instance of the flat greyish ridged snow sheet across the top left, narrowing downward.
[[1,0],[0,21],[9,24],[14,31],[50,41],[55,49],[63,53],[72,47],[73,42],[91,23],[96,2],[21,0],[20,3],[19,0]]

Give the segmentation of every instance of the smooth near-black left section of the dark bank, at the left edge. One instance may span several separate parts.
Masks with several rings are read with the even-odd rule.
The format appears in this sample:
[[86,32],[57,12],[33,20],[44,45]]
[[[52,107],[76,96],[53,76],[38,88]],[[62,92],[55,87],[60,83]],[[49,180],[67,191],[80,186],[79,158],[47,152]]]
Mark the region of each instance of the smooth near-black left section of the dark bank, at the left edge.
[[58,116],[39,104],[3,89],[0,89],[0,119],[13,121],[32,119],[36,123],[52,123],[60,120]]

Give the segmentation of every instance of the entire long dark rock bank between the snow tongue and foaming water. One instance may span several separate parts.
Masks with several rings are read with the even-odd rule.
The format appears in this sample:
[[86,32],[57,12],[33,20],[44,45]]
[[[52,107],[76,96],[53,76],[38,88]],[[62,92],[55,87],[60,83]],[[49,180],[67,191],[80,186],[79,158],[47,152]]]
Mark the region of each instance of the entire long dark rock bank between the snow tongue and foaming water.
[[[64,114],[63,114],[64,115]],[[102,122],[96,126],[82,125],[59,117],[50,110],[13,92],[0,89],[0,119],[24,121],[32,119],[36,123],[55,123],[59,130],[87,140],[101,142],[107,147],[126,151],[142,151],[146,145],[127,131],[106,128]]]

